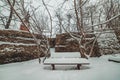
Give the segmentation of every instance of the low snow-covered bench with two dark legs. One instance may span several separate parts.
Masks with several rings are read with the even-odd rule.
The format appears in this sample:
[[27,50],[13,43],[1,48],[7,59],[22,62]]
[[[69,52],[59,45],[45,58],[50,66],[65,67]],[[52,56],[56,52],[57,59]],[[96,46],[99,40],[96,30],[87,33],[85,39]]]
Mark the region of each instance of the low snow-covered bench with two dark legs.
[[85,64],[89,64],[89,61],[81,58],[79,52],[54,53],[44,61],[44,65],[51,65],[53,70],[55,69],[55,65],[77,65],[77,68],[80,69],[80,66]]

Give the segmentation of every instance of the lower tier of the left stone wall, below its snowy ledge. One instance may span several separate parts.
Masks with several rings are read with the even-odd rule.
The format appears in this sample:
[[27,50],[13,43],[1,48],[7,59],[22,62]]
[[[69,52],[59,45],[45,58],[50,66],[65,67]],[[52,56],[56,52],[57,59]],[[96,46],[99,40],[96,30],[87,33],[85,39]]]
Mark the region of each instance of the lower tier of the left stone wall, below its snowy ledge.
[[35,59],[38,54],[37,46],[3,44],[0,46],[0,64]]

